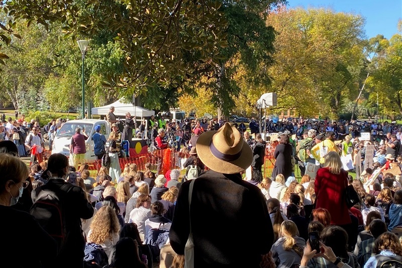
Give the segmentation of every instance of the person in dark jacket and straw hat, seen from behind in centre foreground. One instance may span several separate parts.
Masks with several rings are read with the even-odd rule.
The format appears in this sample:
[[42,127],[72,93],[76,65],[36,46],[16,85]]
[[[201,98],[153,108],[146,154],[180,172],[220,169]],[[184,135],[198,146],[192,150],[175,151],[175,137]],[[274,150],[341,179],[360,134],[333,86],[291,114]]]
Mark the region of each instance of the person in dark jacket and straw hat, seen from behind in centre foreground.
[[180,188],[169,236],[173,250],[184,254],[191,229],[195,268],[260,267],[274,235],[261,190],[243,181],[240,173],[253,160],[250,146],[227,122],[218,131],[201,134],[196,151],[210,170]]

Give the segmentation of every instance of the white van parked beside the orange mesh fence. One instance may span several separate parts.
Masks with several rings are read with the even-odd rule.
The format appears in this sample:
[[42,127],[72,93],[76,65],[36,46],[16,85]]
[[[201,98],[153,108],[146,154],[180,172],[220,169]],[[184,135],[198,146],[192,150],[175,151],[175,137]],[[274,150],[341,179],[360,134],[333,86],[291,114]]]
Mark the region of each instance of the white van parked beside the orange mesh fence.
[[85,140],[85,159],[94,160],[95,153],[93,151],[94,143],[92,141],[92,135],[95,132],[94,128],[96,125],[100,126],[100,133],[104,134],[106,139],[108,139],[110,134],[110,126],[108,121],[98,119],[83,119],[70,120],[64,123],[54,137],[52,154],[61,153],[65,156],[69,156],[71,137],[75,134],[75,129],[80,128],[81,134],[83,134],[83,131],[85,131],[85,133],[88,135],[88,139]]

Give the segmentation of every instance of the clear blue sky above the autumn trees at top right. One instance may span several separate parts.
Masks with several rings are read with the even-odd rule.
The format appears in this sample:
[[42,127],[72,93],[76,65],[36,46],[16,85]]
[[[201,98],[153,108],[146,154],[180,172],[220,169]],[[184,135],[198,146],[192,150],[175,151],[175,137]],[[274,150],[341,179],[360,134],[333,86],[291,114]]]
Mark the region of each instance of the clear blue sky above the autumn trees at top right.
[[402,19],[402,0],[287,0],[288,8],[331,8],[336,12],[354,13],[366,19],[367,38],[384,35],[389,39],[398,32]]

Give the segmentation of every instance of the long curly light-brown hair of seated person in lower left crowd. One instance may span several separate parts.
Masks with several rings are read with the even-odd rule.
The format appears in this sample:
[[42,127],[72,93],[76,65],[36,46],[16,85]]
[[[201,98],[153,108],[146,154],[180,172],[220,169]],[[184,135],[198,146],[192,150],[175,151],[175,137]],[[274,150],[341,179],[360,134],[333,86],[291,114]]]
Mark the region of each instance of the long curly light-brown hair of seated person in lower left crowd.
[[100,208],[93,216],[90,230],[88,241],[103,244],[108,239],[112,240],[113,234],[118,234],[120,231],[120,224],[115,211],[109,206]]

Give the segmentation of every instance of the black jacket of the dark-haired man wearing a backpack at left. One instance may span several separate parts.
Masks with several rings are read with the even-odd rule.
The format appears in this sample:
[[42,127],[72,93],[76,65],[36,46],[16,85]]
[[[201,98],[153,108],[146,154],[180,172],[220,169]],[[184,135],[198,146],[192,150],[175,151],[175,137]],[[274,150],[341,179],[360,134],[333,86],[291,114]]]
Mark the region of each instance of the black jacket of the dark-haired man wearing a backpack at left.
[[[60,189],[64,184],[66,182],[62,178],[52,178],[46,185],[32,191],[32,201],[35,203],[41,191]],[[82,235],[81,219],[92,218],[93,207],[86,200],[85,192],[78,186],[73,186],[60,197],[60,202],[65,213],[67,237],[57,256],[58,267],[82,267],[85,239]]]

